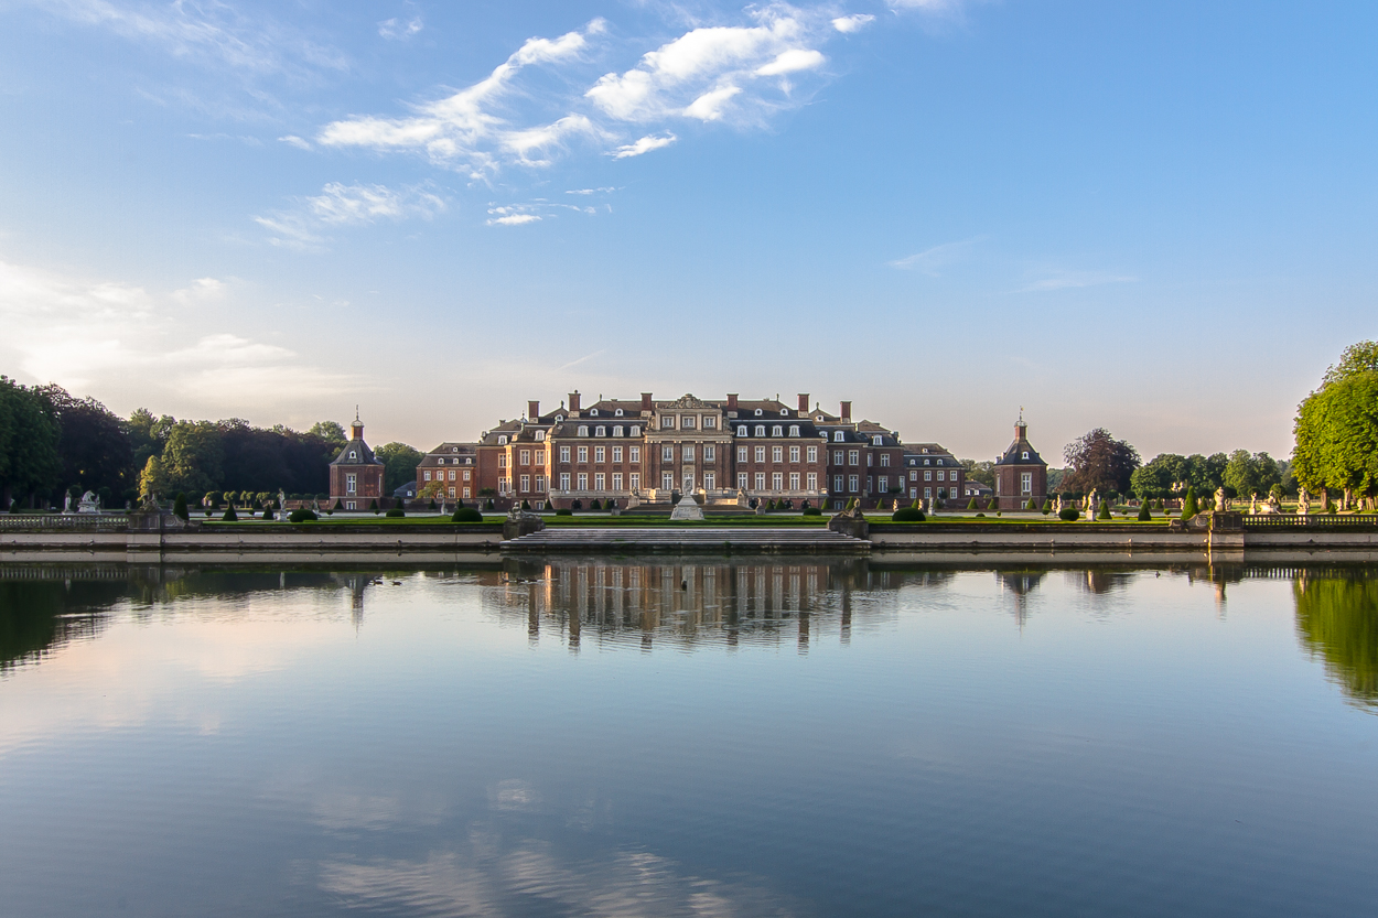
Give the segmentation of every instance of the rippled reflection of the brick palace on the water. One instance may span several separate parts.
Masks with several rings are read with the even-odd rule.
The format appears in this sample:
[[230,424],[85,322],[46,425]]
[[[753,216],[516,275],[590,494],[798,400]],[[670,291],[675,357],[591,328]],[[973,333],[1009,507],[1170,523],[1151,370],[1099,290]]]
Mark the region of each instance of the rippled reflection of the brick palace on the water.
[[780,642],[801,652],[824,623],[845,642],[853,618],[893,612],[904,575],[872,571],[864,560],[604,561],[591,558],[511,564],[482,575],[485,604],[526,619],[531,641],[542,629],[564,634],[570,651],[593,637],[677,645],[700,641]]

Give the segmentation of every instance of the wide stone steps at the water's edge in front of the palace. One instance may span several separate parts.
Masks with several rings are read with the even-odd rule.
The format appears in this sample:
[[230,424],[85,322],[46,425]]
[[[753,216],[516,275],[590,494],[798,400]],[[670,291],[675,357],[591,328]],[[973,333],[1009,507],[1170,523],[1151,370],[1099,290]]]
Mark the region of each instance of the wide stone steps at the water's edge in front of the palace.
[[823,528],[551,528],[502,543],[503,551],[626,551],[638,554],[868,554],[871,543]]

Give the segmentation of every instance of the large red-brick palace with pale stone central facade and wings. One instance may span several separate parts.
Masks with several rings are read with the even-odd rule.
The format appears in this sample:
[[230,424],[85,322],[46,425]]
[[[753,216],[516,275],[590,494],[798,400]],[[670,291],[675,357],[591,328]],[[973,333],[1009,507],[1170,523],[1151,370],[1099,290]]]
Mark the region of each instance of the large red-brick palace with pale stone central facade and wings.
[[526,402],[525,416],[485,430],[477,442],[441,444],[418,466],[416,487],[419,498],[492,498],[500,507],[522,500],[557,509],[575,500],[584,507],[593,500],[668,504],[671,493],[706,503],[745,498],[834,509],[856,498],[875,507],[925,496],[925,487],[941,487],[944,498],[959,493],[960,463],[933,447],[941,456],[927,458],[944,462],[941,485],[907,477],[912,449],[896,430],[853,420],[850,401],[836,415],[810,408],[808,393],[794,405],[779,396],[656,400],[642,393],[584,407],[572,391],[554,411]]

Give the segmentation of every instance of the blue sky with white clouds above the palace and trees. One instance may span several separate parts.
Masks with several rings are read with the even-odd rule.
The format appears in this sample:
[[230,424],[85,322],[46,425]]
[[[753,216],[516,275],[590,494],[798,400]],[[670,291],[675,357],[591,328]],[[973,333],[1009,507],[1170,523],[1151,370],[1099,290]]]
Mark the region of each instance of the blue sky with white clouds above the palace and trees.
[[1378,338],[1378,6],[0,0],[0,372],[375,444],[810,393],[1291,452]]

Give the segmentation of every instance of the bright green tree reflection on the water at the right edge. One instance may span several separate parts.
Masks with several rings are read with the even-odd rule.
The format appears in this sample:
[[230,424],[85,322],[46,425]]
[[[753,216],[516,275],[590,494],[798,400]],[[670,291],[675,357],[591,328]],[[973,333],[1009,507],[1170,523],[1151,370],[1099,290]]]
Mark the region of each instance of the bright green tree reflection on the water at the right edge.
[[1302,644],[1326,660],[1330,677],[1350,699],[1378,706],[1378,579],[1302,571],[1293,594]]

